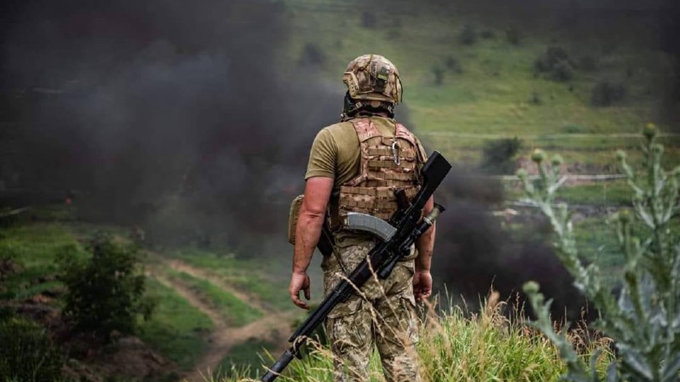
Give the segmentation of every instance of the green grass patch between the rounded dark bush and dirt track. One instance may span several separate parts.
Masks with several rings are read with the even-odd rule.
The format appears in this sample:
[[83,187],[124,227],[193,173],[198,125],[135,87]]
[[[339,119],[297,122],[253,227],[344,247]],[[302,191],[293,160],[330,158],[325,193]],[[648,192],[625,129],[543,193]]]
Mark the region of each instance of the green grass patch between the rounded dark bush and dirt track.
[[152,318],[141,323],[139,337],[181,368],[190,370],[207,349],[206,336],[212,322],[174,290],[154,279],[147,279],[147,291],[158,306]]

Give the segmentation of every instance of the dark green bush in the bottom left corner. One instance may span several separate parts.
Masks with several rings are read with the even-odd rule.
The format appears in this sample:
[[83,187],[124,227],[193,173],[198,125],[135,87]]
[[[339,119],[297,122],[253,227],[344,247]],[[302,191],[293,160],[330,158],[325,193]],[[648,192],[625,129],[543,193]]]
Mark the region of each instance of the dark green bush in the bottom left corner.
[[65,380],[64,357],[41,326],[0,311],[0,344],[0,381]]

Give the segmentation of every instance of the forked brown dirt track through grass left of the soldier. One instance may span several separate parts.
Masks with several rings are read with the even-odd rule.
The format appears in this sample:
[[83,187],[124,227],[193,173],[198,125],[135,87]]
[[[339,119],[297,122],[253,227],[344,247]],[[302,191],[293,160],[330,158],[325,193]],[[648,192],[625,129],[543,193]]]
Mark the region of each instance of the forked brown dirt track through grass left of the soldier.
[[187,288],[186,285],[180,281],[171,280],[165,277],[158,268],[152,269],[150,271],[152,277],[158,280],[158,282],[163,283],[163,285],[175,290],[175,292],[185,298],[192,307],[205,313],[205,315],[213,322],[213,330],[209,334],[209,347],[205,352],[205,355],[203,355],[203,358],[194,365],[193,372],[183,376],[183,380],[189,382],[204,382],[204,376],[208,376],[212,371],[216,370],[220,365],[220,361],[224,359],[235,345],[244,343],[250,338],[266,340],[273,343],[282,343],[285,341],[285,336],[290,334],[290,319],[292,318],[292,313],[282,313],[266,309],[265,307],[262,307],[258,300],[253,298],[253,296],[234,290],[219,277],[211,275],[202,269],[194,268],[178,260],[169,260],[159,255],[154,255],[154,257],[160,260],[160,264],[172,268],[175,271],[182,271],[194,277],[207,279],[214,285],[234,294],[239,299],[248,302],[248,304],[265,313],[265,317],[251,322],[246,326],[241,326],[239,328],[230,327],[217,309],[201,301],[201,299],[196,296],[190,288]]

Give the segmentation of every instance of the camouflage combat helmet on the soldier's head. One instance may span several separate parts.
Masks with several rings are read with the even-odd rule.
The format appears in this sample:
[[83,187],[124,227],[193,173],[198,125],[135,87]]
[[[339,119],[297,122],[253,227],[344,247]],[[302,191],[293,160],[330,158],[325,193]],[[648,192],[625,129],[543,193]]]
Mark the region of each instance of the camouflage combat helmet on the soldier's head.
[[350,61],[342,77],[352,99],[401,102],[401,80],[396,66],[379,54],[364,54]]

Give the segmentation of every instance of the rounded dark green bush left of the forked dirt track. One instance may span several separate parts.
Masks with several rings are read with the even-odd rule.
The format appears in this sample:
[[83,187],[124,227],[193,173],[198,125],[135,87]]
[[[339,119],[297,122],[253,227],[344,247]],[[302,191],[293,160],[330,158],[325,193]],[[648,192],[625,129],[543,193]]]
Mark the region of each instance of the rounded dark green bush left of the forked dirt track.
[[143,297],[146,277],[139,251],[130,243],[101,236],[92,241],[92,257],[62,254],[61,279],[68,288],[64,315],[73,332],[107,342],[114,330],[133,334],[137,316],[148,318],[153,305]]

